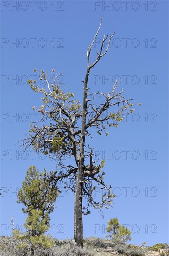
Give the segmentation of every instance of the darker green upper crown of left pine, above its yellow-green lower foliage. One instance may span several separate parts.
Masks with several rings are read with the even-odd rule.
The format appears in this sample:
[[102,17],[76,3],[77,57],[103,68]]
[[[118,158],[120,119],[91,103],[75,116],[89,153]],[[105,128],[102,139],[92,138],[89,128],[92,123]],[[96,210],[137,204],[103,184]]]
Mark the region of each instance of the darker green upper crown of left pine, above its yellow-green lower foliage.
[[54,210],[54,202],[58,197],[57,188],[51,188],[49,183],[43,179],[46,170],[39,173],[35,166],[30,166],[27,175],[18,192],[18,203],[23,203],[24,213],[30,214],[32,210],[39,210],[46,224],[49,225],[49,214]]

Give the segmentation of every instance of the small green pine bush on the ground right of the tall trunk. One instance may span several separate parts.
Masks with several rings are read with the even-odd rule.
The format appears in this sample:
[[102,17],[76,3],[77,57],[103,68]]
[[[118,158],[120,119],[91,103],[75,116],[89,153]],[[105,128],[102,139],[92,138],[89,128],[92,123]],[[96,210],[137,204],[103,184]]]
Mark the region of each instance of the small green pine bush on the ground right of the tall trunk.
[[120,225],[118,218],[110,219],[106,230],[109,233],[106,237],[112,238],[114,243],[125,244],[128,240],[131,240],[131,231],[125,226]]

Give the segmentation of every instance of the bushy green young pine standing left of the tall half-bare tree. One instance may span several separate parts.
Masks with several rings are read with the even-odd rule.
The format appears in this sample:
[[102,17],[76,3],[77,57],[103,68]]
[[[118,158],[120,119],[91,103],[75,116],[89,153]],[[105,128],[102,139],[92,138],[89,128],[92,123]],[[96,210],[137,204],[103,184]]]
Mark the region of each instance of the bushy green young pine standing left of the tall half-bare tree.
[[13,235],[21,241],[19,249],[24,250],[25,254],[31,252],[31,256],[35,255],[37,247],[49,249],[54,244],[50,236],[44,233],[50,227],[49,214],[54,210],[59,192],[56,186],[52,187],[45,181],[45,175],[45,169],[39,173],[35,166],[30,166],[17,195],[17,203],[23,203],[22,211],[28,214],[24,224],[27,231],[21,233],[20,230],[13,230]]

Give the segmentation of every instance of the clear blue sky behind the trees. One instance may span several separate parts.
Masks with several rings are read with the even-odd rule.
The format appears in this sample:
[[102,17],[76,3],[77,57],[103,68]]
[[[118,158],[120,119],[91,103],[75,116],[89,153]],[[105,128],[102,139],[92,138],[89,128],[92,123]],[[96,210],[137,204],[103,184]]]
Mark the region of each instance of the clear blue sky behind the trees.
[[[141,107],[110,129],[108,137],[93,135],[92,146],[100,160],[106,159],[105,182],[117,196],[104,219],[96,209],[84,216],[84,237],[104,237],[109,219],[118,217],[131,230],[134,244],[169,242],[168,5],[167,0],[1,1],[1,235],[10,234],[11,216],[16,228],[25,221],[16,191],[28,167],[55,168],[47,157],[30,150],[24,155],[16,144],[29,130],[32,106],[41,104],[41,95],[25,81],[36,75],[34,68],[55,68],[63,74],[63,88],[82,99],[86,51],[103,17],[91,60],[104,33],[116,33],[91,72],[90,88],[106,92],[120,77],[125,96],[141,101]],[[50,234],[73,237],[73,207],[73,194],[63,191],[51,214]]]

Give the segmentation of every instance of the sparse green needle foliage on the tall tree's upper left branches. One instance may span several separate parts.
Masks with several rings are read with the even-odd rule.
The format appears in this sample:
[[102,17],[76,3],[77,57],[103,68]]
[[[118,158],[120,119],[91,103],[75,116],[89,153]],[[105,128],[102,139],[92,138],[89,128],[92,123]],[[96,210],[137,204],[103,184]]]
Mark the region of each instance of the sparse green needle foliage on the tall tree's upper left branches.
[[[59,85],[56,84],[57,75],[55,75],[53,83],[49,84],[47,76],[55,72],[52,69],[52,72],[46,74],[44,70],[41,72],[34,69],[35,72],[40,74],[40,80],[44,80],[48,85],[48,88],[39,88],[39,85],[36,84],[36,81],[27,80],[28,84],[31,86],[31,89],[34,92],[43,94],[41,98],[43,105],[39,109],[33,106],[33,110],[40,112],[44,115],[45,119],[50,121],[50,126],[44,126],[45,133],[42,130],[42,133],[38,133],[38,137],[32,141],[31,146],[37,152],[39,150],[45,155],[49,154],[49,157],[52,155],[59,155],[65,151],[65,155],[69,155],[71,150],[71,142],[69,138],[65,139],[65,123],[68,128],[72,125],[72,117],[81,116],[81,104],[79,100],[74,100],[74,94],[70,92],[64,92],[60,89]],[[64,109],[64,110],[63,110]],[[61,118],[62,116],[62,118]],[[68,118],[69,116],[69,118]],[[65,119],[68,121],[65,122]],[[41,121],[44,121],[43,118]],[[29,130],[30,135],[36,134],[38,132],[38,125],[30,125]],[[50,143],[44,143],[46,139],[50,140]],[[59,157],[59,156],[58,156]]]

